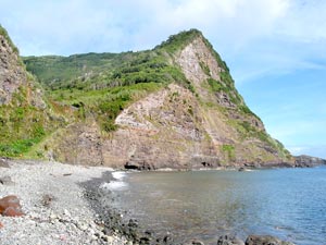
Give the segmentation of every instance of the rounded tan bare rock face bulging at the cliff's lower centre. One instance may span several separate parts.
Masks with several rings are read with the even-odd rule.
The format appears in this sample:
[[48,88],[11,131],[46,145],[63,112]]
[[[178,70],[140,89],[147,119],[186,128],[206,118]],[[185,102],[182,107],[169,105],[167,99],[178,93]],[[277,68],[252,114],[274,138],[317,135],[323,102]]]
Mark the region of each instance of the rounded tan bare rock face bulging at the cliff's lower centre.
[[115,123],[120,128],[103,142],[104,164],[115,162],[128,169],[220,166],[197,100],[178,85],[131,105]]

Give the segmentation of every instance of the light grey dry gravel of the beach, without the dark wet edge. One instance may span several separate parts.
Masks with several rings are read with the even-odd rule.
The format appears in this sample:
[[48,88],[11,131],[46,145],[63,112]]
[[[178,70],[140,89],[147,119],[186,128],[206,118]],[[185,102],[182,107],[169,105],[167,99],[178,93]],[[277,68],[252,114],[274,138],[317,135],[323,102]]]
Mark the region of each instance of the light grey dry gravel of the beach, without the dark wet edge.
[[[130,244],[106,235],[99,216],[85,199],[83,183],[112,171],[41,161],[8,161],[0,168],[0,198],[16,195],[25,216],[0,217],[1,245]],[[2,179],[3,180],[3,179]]]

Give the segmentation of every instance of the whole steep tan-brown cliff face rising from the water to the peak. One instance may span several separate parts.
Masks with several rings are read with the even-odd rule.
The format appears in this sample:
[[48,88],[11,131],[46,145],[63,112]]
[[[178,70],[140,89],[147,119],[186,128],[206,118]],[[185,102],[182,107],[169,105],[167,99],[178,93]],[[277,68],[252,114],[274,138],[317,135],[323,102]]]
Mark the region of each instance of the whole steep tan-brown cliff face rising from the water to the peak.
[[186,81],[172,82],[130,103],[109,134],[92,118],[70,126],[48,144],[53,156],[127,169],[293,162],[248,109],[226,64],[199,32],[180,49],[168,52],[161,46],[159,50]]

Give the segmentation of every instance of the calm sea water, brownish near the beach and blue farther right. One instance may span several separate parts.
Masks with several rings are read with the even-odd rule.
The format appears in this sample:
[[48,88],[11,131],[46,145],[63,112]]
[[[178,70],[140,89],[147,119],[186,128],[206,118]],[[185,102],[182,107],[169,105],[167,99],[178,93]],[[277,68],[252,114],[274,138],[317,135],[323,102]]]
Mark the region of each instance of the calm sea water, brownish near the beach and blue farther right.
[[141,172],[114,188],[129,216],[184,243],[220,234],[271,234],[298,245],[326,244],[326,168],[250,172]]

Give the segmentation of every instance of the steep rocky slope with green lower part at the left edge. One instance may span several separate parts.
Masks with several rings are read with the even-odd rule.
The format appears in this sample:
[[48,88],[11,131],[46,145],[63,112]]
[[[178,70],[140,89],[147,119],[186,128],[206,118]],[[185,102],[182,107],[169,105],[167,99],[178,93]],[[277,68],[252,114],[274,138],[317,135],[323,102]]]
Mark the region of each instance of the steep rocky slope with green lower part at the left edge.
[[0,25],[0,156],[23,156],[60,124]]

